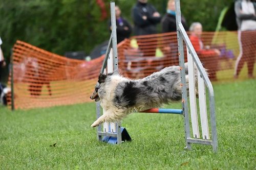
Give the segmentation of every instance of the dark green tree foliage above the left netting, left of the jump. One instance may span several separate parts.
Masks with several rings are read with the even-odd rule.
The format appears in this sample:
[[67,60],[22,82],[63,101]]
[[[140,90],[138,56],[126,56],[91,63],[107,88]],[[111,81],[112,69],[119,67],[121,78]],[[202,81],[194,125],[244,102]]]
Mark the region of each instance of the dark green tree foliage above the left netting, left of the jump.
[[63,55],[89,52],[109,36],[95,1],[4,1],[0,36],[7,54],[17,39]]

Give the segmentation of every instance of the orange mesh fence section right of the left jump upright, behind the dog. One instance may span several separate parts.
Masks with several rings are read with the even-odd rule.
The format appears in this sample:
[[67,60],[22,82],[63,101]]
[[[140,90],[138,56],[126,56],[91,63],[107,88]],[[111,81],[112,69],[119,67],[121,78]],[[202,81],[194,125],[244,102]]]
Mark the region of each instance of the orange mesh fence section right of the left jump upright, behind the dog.
[[[233,79],[234,70],[238,70],[241,79],[246,79],[248,74],[250,77],[253,73],[255,33],[242,33],[244,51],[240,55],[243,56],[241,59],[238,58],[240,45],[237,32],[203,32],[201,42],[190,33],[188,36],[203,66],[208,69],[211,81],[230,81]],[[166,66],[179,64],[176,33],[135,36],[127,40],[127,43],[131,45],[127,45],[128,48],[118,56],[119,68],[126,77],[142,78]],[[184,55],[186,60],[185,45]]]

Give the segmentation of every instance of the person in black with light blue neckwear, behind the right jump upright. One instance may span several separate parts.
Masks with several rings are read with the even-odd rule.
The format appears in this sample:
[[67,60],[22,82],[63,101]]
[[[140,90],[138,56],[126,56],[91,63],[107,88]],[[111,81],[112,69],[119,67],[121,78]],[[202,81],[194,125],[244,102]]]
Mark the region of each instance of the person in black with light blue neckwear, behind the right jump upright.
[[[188,31],[188,27],[186,25],[186,20],[183,16],[181,16],[181,23],[185,29]],[[162,33],[168,32],[176,32],[176,13],[175,13],[175,1],[169,0],[167,3],[167,11],[161,20],[162,25]]]

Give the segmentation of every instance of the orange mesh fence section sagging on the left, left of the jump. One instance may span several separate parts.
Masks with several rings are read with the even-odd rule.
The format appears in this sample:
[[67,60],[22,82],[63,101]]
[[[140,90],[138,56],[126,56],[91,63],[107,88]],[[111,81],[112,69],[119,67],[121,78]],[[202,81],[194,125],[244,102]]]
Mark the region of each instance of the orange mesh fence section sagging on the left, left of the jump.
[[[90,62],[68,59],[17,41],[13,47],[15,108],[90,101],[89,96],[97,81],[102,57]],[[8,105],[11,105],[10,96]]]

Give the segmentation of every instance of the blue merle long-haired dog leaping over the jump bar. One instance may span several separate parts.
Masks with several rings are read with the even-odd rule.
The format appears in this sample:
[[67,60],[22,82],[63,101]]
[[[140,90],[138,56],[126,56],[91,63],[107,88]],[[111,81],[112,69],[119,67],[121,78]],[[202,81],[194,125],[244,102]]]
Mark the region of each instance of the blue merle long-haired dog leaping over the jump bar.
[[[186,63],[185,72],[187,74]],[[186,83],[188,83],[187,75]],[[124,78],[117,72],[100,74],[90,98],[95,101],[100,100],[104,110],[104,114],[91,127],[103,122],[118,122],[127,114],[160,107],[171,101],[180,101],[182,99],[180,67],[165,67],[139,80]]]

